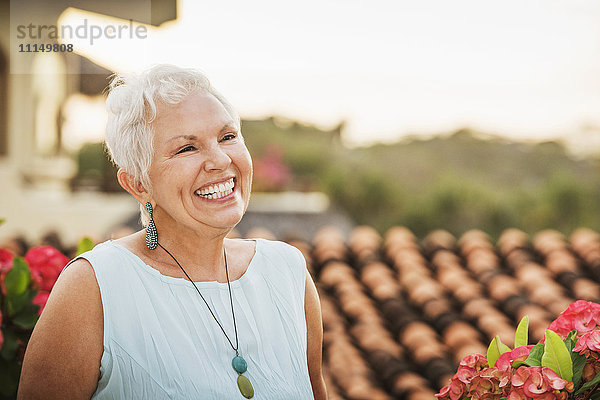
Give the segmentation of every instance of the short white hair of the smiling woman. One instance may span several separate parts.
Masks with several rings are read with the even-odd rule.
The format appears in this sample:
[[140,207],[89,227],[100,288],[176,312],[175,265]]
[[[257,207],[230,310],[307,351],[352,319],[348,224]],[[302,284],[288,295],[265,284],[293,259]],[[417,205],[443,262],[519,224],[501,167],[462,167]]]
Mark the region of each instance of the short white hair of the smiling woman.
[[[190,93],[202,90],[213,95],[240,128],[240,118],[231,104],[195,69],[156,65],[139,74],[115,75],[108,90],[106,147],[113,162],[149,193],[152,193],[149,177],[152,122],[156,119],[157,104],[179,104]],[[140,214],[142,224],[148,225],[150,215],[143,204]]]

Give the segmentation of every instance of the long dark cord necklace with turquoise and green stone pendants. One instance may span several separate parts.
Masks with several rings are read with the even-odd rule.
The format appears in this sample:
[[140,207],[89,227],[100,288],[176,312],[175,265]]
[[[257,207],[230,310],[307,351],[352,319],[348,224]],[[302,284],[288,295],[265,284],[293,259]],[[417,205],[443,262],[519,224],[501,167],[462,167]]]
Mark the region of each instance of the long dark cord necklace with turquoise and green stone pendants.
[[173,254],[171,254],[169,252],[169,250],[165,249],[160,243],[158,243],[158,245],[169,256],[171,256],[171,258],[173,259],[173,261],[175,261],[175,263],[179,266],[179,268],[181,268],[181,270],[183,271],[183,273],[185,274],[185,276],[188,278],[188,280],[190,282],[192,282],[192,285],[194,285],[194,288],[196,289],[196,292],[198,292],[198,294],[200,295],[200,297],[202,298],[202,300],[204,300],[204,304],[206,304],[206,307],[208,308],[208,311],[210,311],[210,315],[213,316],[213,318],[215,319],[215,321],[219,325],[219,328],[221,328],[221,331],[223,331],[223,334],[227,338],[227,341],[229,342],[229,345],[231,346],[231,348],[233,349],[233,351],[235,351],[235,357],[233,357],[233,359],[231,360],[231,366],[233,367],[233,369],[235,370],[235,372],[237,372],[237,374],[238,374],[238,378],[237,378],[238,389],[240,390],[240,393],[242,394],[242,396],[244,396],[247,399],[251,399],[252,397],[254,397],[254,388],[252,387],[252,383],[250,383],[250,380],[247,377],[245,377],[244,375],[242,375],[248,369],[248,364],[246,363],[246,360],[244,360],[244,357],[240,356],[239,351],[238,351],[238,349],[239,349],[239,340],[238,340],[238,335],[237,335],[237,325],[235,323],[235,312],[233,311],[233,296],[231,294],[231,285],[229,283],[229,269],[227,268],[227,253],[225,252],[225,248],[223,248],[223,258],[225,259],[225,275],[227,276],[227,288],[229,289],[229,301],[231,303],[231,314],[233,315],[233,329],[235,331],[235,346],[231,342],[231,339],[229,339],[229,336],[225,332],[225,329],[223,329],[223,325],[221,325],[221,323],[217,319],[215,313],[213,313],[213,311],[210,309],[210,306],[208,305],[208,302],[206,301],[206,299],[204,298],[204,296],[202,296],[202,293],[200,293],[200,290],[198,289],[198,286],[196,286],[196,284],[194,283],[194,281],[192,280],[192,278],[190,278],[190,276],[188,275],[188,273],[185,272],[185,269],[183,269],[183,267],[181,266],[181,264],[179,264],[179,261],[177,261],[177,259],[175,258],[175,256],[173,256]]

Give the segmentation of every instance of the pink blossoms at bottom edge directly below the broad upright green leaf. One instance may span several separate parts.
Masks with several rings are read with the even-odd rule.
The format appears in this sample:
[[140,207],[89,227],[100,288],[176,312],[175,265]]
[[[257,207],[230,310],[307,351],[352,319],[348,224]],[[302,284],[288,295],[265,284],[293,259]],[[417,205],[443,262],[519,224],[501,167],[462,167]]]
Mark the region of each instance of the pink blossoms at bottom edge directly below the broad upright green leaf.
[[519,367],[513,374],[511,383],[513,387],[520,388],[525,396],[535,399],[554,399],[555,390],[567,387],[567,381],[546,367]]

